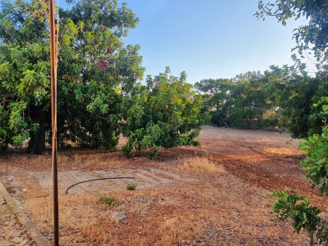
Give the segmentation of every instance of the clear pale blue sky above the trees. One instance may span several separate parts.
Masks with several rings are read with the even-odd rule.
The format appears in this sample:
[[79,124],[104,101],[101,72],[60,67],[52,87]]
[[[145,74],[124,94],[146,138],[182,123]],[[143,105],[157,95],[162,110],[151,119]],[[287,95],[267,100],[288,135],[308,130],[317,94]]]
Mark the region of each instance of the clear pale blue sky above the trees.
[[[274,17],[258,21],[253,16],[257,0],[122,2],[140,18],[125,43],[140,44],[145,75],[157,75],[170,66],[173,75],[186,71],[192,84],[204,78],[263,72],[270,65],[292,65],[292,30],[304,22],[290,19],[284,27]],[[304,61],[313,72],[310,60]]]

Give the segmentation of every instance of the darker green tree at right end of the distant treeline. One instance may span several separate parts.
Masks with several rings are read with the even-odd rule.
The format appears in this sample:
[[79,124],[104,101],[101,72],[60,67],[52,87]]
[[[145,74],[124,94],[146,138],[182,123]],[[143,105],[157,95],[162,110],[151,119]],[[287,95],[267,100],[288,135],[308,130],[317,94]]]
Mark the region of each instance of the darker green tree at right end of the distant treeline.
[[265,74],[269,78],[270,99],[278,109],[279,125],[294,138],[320,133],[324,115],[313,104],[328,93],[328,81],[321,75],[311,77],[297,66],[270,69]]

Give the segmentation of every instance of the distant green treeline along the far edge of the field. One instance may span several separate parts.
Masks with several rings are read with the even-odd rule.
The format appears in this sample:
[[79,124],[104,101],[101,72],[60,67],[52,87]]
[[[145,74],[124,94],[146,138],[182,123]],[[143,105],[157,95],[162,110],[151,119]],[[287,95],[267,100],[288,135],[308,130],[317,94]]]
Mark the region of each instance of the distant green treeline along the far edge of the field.
[[324,115],[313,104],[328,95],[327,71],[322,68],[310,76],[293,58],[290,67],[200,80],[195,88],[202,94],[202,111],[210,112],[218,127],[286,129],[295,138],[320,133]]

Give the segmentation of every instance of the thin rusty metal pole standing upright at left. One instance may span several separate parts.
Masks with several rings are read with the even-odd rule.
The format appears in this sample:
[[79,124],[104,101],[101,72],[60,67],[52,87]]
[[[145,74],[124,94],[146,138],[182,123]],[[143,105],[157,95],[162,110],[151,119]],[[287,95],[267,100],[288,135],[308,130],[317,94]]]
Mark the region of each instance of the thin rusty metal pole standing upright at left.
[[55,49],[54,0],[49,0],[50,28],[50,78],[51,78],[51,125],[52,125],[52,167],[53,167],[53,228],[54,245],[59,246],[58,221],[58,173],[57,173],[57,63]]

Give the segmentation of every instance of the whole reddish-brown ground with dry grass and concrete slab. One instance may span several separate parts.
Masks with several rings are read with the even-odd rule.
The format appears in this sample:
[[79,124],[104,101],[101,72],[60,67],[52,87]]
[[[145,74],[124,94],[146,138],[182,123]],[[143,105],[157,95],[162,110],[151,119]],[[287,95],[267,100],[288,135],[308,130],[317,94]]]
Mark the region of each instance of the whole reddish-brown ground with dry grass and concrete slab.
[[[201,147],[161,150],[157,160],[143,153],[128,159],[119,151],[60,150],[61,245],[309,244],[306,236],[293,233],[291,221],[279,221],[270,208],[270,189],[292,189],[326,216],[328,200],[303,178],[298,140],[288,133],[208,126],[198,140]],[[0,180],[51,241],[50,176],[49,154],[11,151],[0,158]],[[127,176],[134,179],[87,182],[65,194],[79,181]],[[135,191],[126,189],[129,182],[136,183]],[[99,193],[115,196],[117,204],[101,204]],[[125,212],[126,221],[114,222],[114,212]]]

